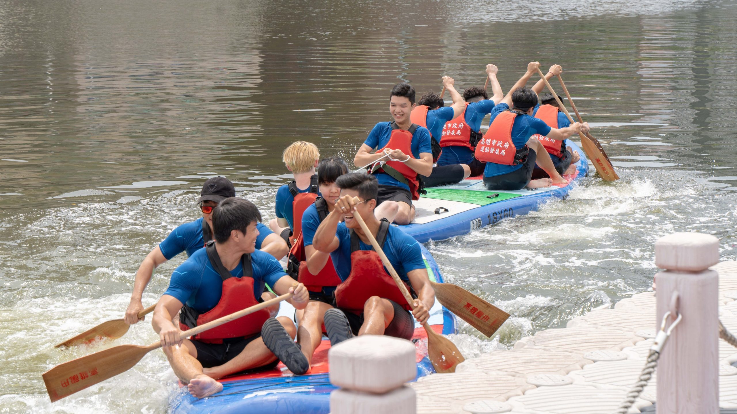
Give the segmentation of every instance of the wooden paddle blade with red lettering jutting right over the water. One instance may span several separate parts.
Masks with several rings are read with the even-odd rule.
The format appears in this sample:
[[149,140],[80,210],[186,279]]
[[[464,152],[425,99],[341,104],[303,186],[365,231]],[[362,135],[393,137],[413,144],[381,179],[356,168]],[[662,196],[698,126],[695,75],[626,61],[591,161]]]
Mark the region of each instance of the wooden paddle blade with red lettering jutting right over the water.
[[509,317],[509,313],[460,286],[430,283],[435,290],[435,297],[443,306],[487,337],[491,337]]

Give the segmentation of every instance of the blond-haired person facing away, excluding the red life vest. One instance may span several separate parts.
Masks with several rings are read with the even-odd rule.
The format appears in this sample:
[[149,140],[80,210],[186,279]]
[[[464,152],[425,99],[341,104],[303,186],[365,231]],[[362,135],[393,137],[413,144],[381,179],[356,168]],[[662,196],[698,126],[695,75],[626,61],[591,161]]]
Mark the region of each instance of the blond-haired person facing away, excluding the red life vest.
[[[288,241],[294,229],[292,208],[294,196],[303,192],[318,192],[315,167],[320,161],[320,151],[312,142],[295,141],[284,150],[282,161],[294,175],[294,180],[279,187],[276,192],[276,219],[269,222],[269,227],[271,231]],[[315,175],[314,186],[312,185],[313,175]]]

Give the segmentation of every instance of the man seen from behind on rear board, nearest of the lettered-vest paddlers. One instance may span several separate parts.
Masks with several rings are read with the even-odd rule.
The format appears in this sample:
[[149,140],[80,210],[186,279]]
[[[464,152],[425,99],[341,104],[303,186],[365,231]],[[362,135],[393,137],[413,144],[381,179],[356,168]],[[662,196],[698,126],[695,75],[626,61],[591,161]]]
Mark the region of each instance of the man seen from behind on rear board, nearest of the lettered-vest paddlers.
[[[486,189],[509,191],[565,183],[551,158],[545,155],[545,147],[532,136],[537,133],[563,141],[574,133],[586,133],[589,129],[587,123],[579,122],[561,129],[551,128],[541,119],[532,116],[538,98],[525,84],[537,73],[539,66],[539,62],[528,63],[523,77],[520,77],[502,102],[492,110],[489,130],[476,146],[475,157],[486,162],[483,172]],[[532,180],[532,171],[536,164],[550,178]]]

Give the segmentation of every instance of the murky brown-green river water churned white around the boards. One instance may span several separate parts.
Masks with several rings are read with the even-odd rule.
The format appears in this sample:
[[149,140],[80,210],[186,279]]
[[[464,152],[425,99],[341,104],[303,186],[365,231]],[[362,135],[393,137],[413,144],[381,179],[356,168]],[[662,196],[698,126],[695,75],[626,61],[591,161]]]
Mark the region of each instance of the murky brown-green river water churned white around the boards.
[[663,234],[714,234],[737,258],[735,1],[6,0],[0,19],[0,413],[164,413],[176,386],[158,351],[55,404],[41,380],[155,341],[150,323],[52,346],[121,317],[208,176],[270,219],[284,147],[351,160],[400,81],[462,90],[495,63],[507,89],[529,60],[560,63],[621,176],[428,244],[449,281],[512,315],[492,340],[461,326],[467,357],[649,289]]

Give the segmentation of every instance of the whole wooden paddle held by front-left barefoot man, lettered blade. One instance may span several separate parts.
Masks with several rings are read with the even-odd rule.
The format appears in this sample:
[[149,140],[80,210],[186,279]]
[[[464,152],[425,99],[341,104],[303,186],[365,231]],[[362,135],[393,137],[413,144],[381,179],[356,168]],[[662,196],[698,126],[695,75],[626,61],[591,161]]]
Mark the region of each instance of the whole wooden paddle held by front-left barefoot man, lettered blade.
[[[211,320],[208,323],[203,323],[200,326],[195,326],[192,329],[182,332],[180,336],[186,338],[199,334],[215,326],[223,325],[223,323],[228,323],[231,320],[268,308],[292,296],[293,293],[281,295],[277,298],[231,313],[230,315]],[[113,348],[105,349],[105,351],[95,352],[85,357],[64,362],[43,373],[43,382],[46,383],[46,391],[49,393],[52,402],[63,399],[66,396],[71,396],[71,394],[84,390],[86,387],[91,387],[98,382],[105,381],[105,379],[128,371],[145,354],[156,348],[161,348],[161,341],[157,340],[155,343],[147,346],[114,346]]]

